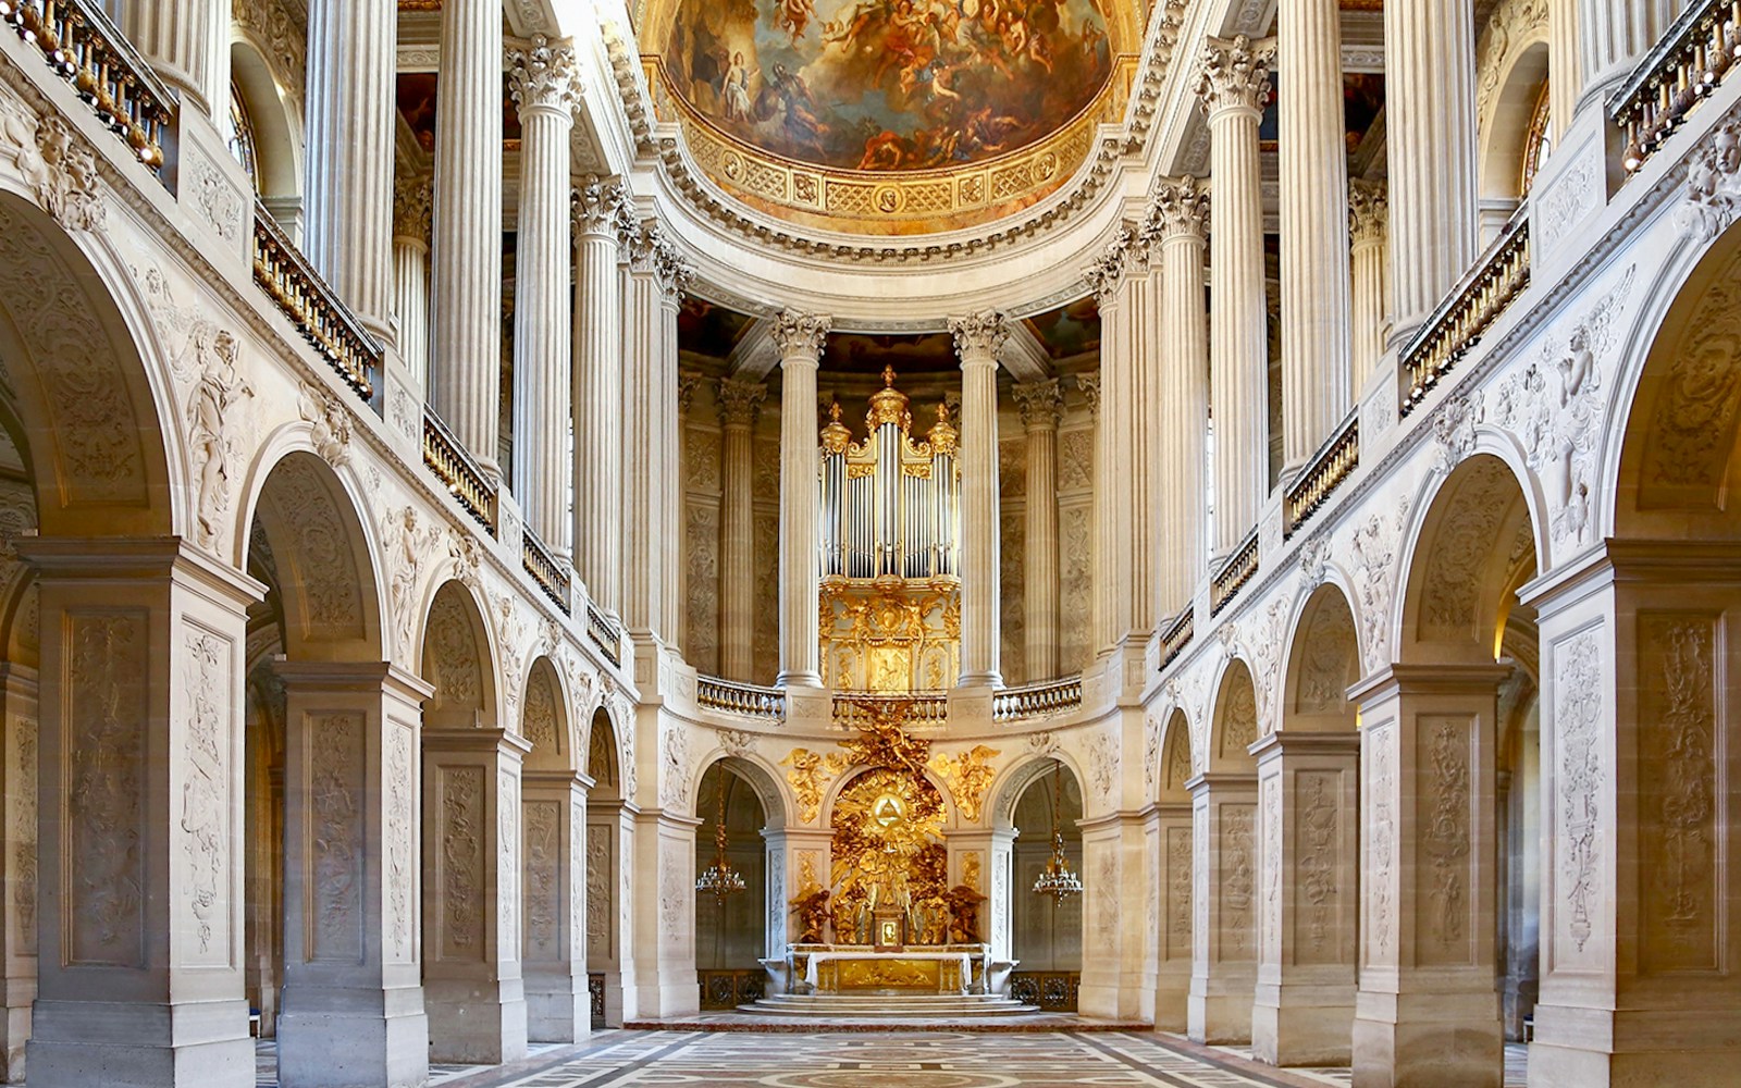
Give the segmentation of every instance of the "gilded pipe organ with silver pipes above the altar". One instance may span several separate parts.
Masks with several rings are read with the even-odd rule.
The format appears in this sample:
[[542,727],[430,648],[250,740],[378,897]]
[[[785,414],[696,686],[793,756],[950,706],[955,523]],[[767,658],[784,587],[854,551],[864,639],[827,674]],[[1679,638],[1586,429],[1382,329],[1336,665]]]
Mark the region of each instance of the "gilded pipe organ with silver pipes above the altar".
[[909,402],[884,367],[862,442],[837,402],[822,428],[822,679],[836,689],[940,689],[959,670],[958,432],[938,404],[916,442]]

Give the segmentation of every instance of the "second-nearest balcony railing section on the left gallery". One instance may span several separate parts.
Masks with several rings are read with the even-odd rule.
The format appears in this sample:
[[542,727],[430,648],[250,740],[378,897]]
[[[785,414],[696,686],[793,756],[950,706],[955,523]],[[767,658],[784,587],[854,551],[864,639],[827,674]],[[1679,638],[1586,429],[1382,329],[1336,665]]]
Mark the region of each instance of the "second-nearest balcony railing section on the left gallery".
[[338,371],[345,385],[371,400],[374,376],[381,371],[381,345],[362,331],[338,294],[279,230],[259,197],[254,197],[254,280]]

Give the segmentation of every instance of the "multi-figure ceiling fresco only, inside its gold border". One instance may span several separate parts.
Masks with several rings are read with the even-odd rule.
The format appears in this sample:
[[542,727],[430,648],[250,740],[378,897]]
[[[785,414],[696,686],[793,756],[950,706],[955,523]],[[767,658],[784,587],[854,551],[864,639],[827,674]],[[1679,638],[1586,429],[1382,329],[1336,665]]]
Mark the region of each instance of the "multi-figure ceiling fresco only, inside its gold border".
[[676,91],[818,167],[902,172],[1031,146],[1112,75],[1106,0],[681,0]]

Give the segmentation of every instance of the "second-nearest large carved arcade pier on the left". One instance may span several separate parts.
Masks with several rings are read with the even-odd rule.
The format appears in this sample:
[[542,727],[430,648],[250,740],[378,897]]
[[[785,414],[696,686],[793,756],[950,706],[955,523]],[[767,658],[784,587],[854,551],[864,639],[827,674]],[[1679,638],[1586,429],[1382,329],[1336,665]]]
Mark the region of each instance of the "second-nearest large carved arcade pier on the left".
[[287,738],[279,1083],[423,1083],[416,797],[432,689],[388,663],[280,662],[277,674]]

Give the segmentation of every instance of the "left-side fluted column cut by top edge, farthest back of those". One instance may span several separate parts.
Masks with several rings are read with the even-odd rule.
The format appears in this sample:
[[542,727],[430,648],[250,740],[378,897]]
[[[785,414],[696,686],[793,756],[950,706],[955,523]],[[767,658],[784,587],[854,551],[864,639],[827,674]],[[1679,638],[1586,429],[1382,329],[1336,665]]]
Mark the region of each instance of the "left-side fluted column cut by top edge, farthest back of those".
[[501,3],[446,0],[435,89],[430,402],[489,477],[501,473]]

